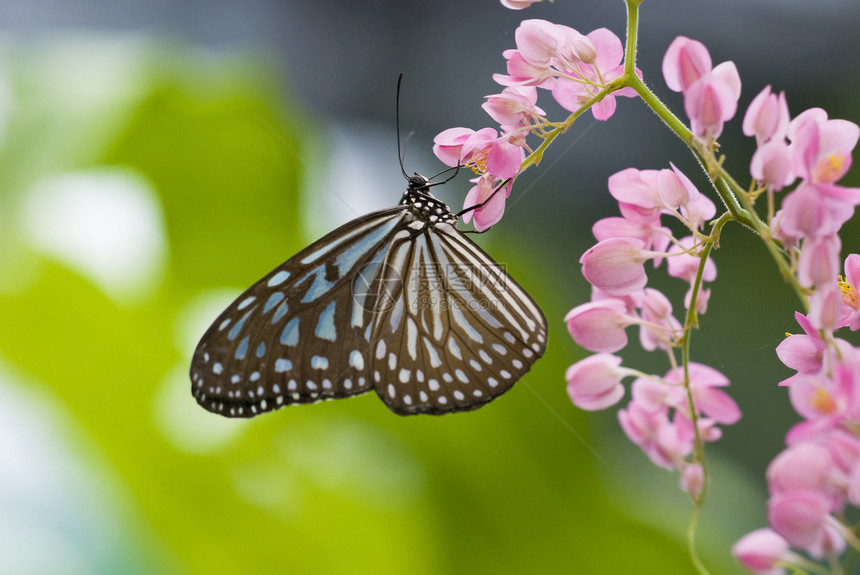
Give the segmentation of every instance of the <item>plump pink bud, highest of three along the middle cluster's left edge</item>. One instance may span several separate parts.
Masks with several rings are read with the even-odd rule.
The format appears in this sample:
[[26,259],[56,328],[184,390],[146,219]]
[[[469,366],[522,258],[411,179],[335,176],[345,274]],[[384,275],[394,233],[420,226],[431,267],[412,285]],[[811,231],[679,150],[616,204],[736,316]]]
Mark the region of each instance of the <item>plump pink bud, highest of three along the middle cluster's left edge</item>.
[[629,238],[598,242],[579,258],[582,275],[610,295],[629,295],[648,283],[644,263],[654,254],[643,248],[641,241]]

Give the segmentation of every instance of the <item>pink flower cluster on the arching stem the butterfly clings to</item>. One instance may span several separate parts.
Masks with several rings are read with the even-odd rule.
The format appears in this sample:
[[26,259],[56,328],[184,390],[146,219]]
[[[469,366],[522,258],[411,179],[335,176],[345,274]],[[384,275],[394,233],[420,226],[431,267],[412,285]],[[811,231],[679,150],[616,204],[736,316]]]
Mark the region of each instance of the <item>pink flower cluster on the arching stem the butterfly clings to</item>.
[[[530,2],[503,4],[524,8]],[[463,217],[466,222],[474,218],[478,231],[502,218],[511,180],[520,172],[526,154],[532,152],[527,136],[541,137],[553,127],[537,106],[538,88],[549,90],[562,107],[575,112],[624,73],[624,47],[605,28],[583,35],[545,20],[525,20],[515,38],[516,50],[504,52],[507,75],[493,76],[504,89],[487,96],[483,104],[500,131],[450,128],[433,140],[433,152],[443,163],[469,166],[478,176],[464,202],[464,209],[474,209]],[[591,106],[592,113],[598,120],[606,120],[615,112],[615,96],[635,95],[629,88],[608,93]]]

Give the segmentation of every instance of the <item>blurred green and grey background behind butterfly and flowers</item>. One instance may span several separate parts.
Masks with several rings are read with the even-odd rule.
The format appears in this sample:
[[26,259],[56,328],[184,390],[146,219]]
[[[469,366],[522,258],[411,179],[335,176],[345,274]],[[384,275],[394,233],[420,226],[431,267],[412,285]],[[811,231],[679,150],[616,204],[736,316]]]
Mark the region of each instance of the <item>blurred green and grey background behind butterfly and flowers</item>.
[[[459,24],[450,6],[373,3],[367,25],[348,34],[344,14],[314,16],[312,4],[278,12],[277,3],[251,3],[270,11],[230,20],[230,3],[211,12],[154,3],[168,15],[159,20],[131,3],[133,25],[87,21],[83,8],[42,21],[36,10],[0,8],[0,573],[690,573],[691,508],[677,477],[629,445],[613,413],[578,412],[564,391],[564,370],[583,352],[562,318],[588,298],[577,260],[591,223],[615,214],[606,178],[629,165],[690,166],[639,102],[621,101],[609,124],[572,130],[523,178],[502,224],[477,237],[550,322],[546,357],[499,400],[400,418],[371,394],[234,421],[192,399],[191,352],[232,297],[323,232],[399,199],[398,68],[407,72],[404,130],[417,132],[407,170],[434,173],[435,133],[488,123],[478,105],[495,90],[490,73],[502,70],[497,54],[513,45],[517,18],[623,31],[620,2],[565,9],[559,0],[519,14],[464,2]],[[671,37],[707,41],[713,31],[695,19],[672,23],[672,3],[653,5],[663,18],[643,20],[651,44],[640,66],[662,87]],[[482,20],[484,10],[501,20]],[[856,9],[845,10],[830,17],[856,24]],[[386,25],[374,28],[383,14]],[[786,26],[808,18],[788,16]],[[210,20],[222,31],[271,29],[256,43],[201,41]],[[417,41],[418,23],[430,48]],[[462,36],[441,36],[464,24],[487,38],[469,47],[486,63],[464,70],[462,55],[449,53],[431,68],[433,50],[466,48]],[[388,44],[390,60],[376,59],[379,30],[402,54]],[[305,44],[290,45],[285,64],[278,48],[298,40],[280,33],[302,31]],[[844,39],[818,40],[807,56]],[[777,75],[791,65],[776,55],[785,44],[768,59],[714,41],[715,61],[734,59],[751,77],[742,106],[775,81],[745,75],[755,69],[749,59]],[[328,43],[341,50],[321,56]],[[816,103],[857,121],[856,104],[822,86]],[[789,93],[795,114],[805,107],[798,90],[797,99]],[[743,177],[750,144],[735,124],[727,141],[737,147],[724,151]],[[468,185],[446,188],[456,206]],[[846,253],[856,251],[857,228]],[[772,350],[796,329],[797,304],[739,228],[724,232],[715,258],[720,277],[694,355],[729,375],[745,418],[709,452],[699,541],[712,572],[733,573],[728,549],[764,525],[763,470],[795,420]],[[684,287],[655,282],[680,307]],[[625,358],[666,369],[654,356]]]

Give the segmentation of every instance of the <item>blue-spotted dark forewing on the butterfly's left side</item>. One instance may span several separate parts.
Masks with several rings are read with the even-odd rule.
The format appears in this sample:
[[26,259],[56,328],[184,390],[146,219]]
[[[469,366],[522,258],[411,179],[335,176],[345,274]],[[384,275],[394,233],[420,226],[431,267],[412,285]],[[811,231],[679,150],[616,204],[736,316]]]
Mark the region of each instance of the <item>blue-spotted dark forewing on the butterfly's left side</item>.
[[408,219],[402,206],[355,219],[240,295],[194,352],[197,402],[227,417],[253,417],[370,390],[373,321],[390,304],[386,290],[397,290],[383,281],[390,277],[383,263]]

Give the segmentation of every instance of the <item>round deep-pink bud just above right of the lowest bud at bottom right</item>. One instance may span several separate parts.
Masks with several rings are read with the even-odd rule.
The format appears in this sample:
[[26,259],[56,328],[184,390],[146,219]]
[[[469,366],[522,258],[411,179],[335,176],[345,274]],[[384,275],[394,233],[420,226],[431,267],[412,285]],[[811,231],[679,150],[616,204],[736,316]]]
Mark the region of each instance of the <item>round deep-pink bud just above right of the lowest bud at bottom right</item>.
[[776,493],[767,504],[768,521],[774,531],[801,549],[822,536],[829,511],[830,498],[812,489]]

